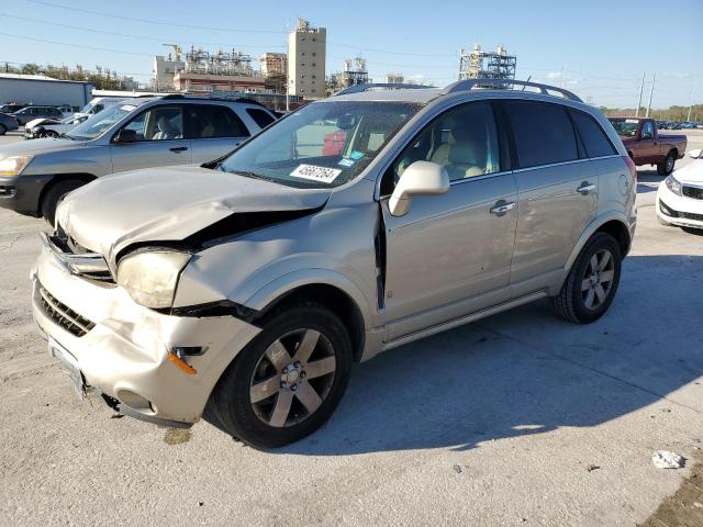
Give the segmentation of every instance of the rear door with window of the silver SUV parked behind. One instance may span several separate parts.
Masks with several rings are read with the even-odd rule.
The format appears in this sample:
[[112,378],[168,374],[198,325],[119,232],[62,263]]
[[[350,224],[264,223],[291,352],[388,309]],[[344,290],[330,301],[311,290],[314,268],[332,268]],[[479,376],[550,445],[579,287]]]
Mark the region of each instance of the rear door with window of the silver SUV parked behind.
[[187,104],[186,126],[196,164],[224,156],[250,135],[242,119],[225,104]]

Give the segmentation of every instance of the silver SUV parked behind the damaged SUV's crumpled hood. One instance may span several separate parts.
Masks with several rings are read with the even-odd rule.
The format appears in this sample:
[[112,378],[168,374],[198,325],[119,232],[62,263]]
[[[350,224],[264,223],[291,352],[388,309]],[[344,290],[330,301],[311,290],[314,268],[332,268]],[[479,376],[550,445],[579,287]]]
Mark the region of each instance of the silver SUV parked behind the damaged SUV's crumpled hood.
[[0,206],[53,223],[69,191],[112,172],[210,161],[275,121],[255,102],[182,96],[109,105],[60,138],[0,147]]

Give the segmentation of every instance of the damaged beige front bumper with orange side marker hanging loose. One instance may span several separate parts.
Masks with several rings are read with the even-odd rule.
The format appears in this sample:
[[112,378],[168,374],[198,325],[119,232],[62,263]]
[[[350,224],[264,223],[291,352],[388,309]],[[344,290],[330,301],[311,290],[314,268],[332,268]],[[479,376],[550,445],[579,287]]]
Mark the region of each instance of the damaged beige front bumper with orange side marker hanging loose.
[[[119,285],[71,273],[59,256],[45,244],[32,270],[33,315],[49,343],[75,360],[85,385],[125,415],[169,426],[197,422],[259,328],[233,316],[157,313]],[[199,355],[178,354],[179,363],[179,349]]]

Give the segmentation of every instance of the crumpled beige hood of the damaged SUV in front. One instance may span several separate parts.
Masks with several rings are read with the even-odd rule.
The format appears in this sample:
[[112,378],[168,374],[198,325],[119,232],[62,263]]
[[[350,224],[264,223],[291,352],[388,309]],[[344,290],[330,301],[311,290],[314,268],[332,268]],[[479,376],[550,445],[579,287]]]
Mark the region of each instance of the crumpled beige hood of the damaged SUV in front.
[[114,265],[123,248],[138,242],[181,240],[233,213],[317,209],[330,194],[198,166],[161,167],[81,187],[56,217],[78,244]]

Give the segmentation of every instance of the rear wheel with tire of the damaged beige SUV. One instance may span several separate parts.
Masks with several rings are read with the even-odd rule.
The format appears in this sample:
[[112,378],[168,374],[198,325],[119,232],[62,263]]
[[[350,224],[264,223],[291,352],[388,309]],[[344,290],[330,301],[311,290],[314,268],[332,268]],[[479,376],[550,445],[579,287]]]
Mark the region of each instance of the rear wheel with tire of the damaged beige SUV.
[[[603,264],[605,255],[610,260]],[[592,259],[596,258],[598,272],[593,272]],[[577,324],[589,324],[599,319],[607,311],[620,283],[622,256],[620,245],[605,233],[595,233],[576,259],[557,296],[551,299],[555,313],[561,318]],[[610,278],[610,280],[605,280]],[[598,280],[595,283],[594,281]],[[589,289],[583,289],[589,281]],[[601,294],[598,288],[601,288]],[[592,303],[589,305],[589,300]]]

